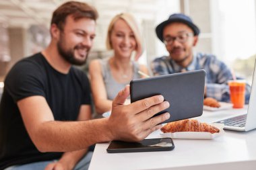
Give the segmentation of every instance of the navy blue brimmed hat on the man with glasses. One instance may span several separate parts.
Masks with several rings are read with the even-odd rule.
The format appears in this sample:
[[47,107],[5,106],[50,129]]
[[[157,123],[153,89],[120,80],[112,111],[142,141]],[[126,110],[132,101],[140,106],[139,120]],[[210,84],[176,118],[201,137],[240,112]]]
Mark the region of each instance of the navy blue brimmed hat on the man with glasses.
[[183,24],[186,24],[193,30],[195,36],[199,35],[200,33],[199,28],[195,26],[195,24],[193,24],[193,21],[189,16],[184,15],[183,13],[174,13],[170,15],[170,17],[166,21],[156,26],[156,36],[158,36],[159,40],[161,40],[162,42],[164,41],[162,37],[164,27],[168,24],[171,24],[172,22],[181,22]]

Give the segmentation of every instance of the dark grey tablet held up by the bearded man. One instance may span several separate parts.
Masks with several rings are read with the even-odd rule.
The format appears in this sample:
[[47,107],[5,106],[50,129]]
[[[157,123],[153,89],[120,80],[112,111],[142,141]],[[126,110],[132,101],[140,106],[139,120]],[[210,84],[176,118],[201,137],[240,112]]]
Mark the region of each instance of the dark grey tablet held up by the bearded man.
[[193,118],[203,114],[204,86],[204,70],[135,79],[130,83],[131,102],[163,95],[170,107],[155,116],[168,112],[170,118],[162,123]]

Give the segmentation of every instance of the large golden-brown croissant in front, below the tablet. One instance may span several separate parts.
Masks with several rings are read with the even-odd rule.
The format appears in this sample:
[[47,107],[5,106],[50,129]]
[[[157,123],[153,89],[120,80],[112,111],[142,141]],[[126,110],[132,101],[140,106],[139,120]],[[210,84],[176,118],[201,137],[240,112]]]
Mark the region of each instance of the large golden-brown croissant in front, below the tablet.
[[220,132],[220,130],[214,126],[210,126],[206,123],[201,123],[198,120],[179,120],[176,122],[170,122],[161,128],[164,133],[174,132],[210,132],[212,134]]

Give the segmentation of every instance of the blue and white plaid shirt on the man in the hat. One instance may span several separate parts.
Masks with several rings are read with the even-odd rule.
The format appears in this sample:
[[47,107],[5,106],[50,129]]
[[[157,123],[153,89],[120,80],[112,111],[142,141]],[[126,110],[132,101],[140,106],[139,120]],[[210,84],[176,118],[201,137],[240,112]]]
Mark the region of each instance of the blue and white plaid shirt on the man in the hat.
[[[168,75],[183,71],[204,69],[206,72],[205,85],[207,97],[213,97],[218,101],[230,102],[228,80],[232,79],[230,69],[224,62],[218,60],[212,54],[194,54],[192,62],[187,67],[181,67],[170,56],[156,58],[151,63],[154,75]],[[245,103],[249,103],[251,87],[247,84]]]

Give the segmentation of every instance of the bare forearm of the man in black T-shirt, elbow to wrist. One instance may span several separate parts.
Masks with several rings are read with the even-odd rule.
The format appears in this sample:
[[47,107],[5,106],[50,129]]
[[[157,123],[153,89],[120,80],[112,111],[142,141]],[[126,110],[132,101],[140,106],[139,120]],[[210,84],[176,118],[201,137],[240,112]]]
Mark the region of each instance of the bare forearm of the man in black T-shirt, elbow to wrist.
[[77,151],[96,142],[112,140],[108,118],[78,122],[44,122],[34,134],[34,144],[41,152]]

